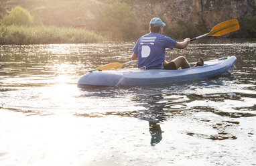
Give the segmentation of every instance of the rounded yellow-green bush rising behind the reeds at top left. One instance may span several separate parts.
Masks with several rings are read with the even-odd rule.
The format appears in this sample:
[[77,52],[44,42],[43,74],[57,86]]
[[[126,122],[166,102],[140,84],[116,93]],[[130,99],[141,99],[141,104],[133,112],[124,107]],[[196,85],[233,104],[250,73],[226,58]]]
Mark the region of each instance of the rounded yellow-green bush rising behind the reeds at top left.
[[33,24],[33,17],[30,15],[27,9],[23,9],[22,7],[16,6],[11,9],[9,15],[5,15],[3,19],[1,19],[2,25],[23,25],[29,26]]

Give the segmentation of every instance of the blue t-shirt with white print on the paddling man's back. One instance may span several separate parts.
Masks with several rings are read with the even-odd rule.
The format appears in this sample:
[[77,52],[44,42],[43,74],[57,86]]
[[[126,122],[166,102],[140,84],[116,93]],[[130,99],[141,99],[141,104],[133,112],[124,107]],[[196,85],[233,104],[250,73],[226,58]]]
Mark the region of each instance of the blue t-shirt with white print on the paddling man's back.
[[163,69],[166,48],[174,49],[177,42],[159,33],[147,33],[141,36],[133,48],[138,57],[138,68]]

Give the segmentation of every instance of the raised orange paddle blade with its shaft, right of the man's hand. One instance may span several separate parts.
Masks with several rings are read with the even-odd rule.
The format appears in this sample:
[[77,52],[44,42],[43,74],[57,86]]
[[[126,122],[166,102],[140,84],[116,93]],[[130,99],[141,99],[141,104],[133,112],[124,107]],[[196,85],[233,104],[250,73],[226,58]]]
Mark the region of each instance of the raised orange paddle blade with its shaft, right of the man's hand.
[[205,33],[204,35],[200,35],[198,37],[194,37],[193,39],[190,39],[190,41],[199,39],[201,37],[204,37],[206,35],[212,35],[212,36],[220,36],[224,35],[226,33],[230,33],[232,31],[237,31],[239,30],[239,22],[237,19],[230,19],[228,21],[224,21],[222,23],[218,23],[215,25],[212,30],[210,30],[209,33]]

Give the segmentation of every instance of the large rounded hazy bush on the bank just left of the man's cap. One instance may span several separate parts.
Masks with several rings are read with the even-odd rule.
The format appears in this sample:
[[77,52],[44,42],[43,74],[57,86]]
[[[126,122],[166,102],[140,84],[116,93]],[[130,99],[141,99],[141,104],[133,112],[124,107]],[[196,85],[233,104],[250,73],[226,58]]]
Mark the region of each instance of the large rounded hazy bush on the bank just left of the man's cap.
[[101,31],[111,39],[131,39],[137,35],[139,19],[127,3],[115,2],[101,14]]

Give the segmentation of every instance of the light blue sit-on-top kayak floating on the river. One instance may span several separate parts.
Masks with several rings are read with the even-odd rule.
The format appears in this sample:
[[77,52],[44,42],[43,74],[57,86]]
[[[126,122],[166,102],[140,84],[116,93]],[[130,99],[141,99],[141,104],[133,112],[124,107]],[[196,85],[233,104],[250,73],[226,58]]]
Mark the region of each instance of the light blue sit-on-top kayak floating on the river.
[[[126,68],[93,71],[84,74],[78,80],[78,86],[141,86],[199,80],[231,72],[236,61],[235,56],[230,56],[204,61],[204,66],[182,70]],[[194,64],[196,63],[191,63],[190,66],[194,66]]]

